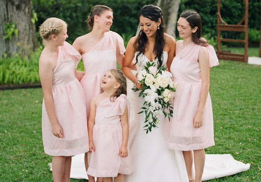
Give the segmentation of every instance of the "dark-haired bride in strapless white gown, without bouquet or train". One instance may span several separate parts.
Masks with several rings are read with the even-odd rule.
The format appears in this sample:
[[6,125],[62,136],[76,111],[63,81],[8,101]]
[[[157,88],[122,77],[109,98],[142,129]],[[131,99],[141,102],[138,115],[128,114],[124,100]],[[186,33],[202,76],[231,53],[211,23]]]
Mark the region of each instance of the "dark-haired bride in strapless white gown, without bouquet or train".
[[[133,59],[138,72],[148,61],[169,69],[175,52],[175,39],[164,33],[162,10],[155,5],[144,5],[139,16],[141,31],[130,39],[122,64],[123,73],[137,88],[141,88],[141,83],[130,69]],[[138,96],[139,93],[133,93],[134,113],[139,113],[144,103]],[[143,130],[144,121],[143,113],[135,114],[130,121],[129,144],[134,172],[125,176],[125,182],[188,182],[182,152],[166,148],[164,116],[159,128],[147,134]]]

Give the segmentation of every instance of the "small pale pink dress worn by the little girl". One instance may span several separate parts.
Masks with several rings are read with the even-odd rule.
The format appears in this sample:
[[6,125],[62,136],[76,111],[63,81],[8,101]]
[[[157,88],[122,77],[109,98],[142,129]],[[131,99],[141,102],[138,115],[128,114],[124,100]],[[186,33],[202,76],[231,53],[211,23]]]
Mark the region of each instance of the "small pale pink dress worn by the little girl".
[[110,98],[102,100],[96,107],[93,141],[95,152],[92,152],[87,174],[95,177],[117,177],[133,172],[129,147],[128,156],[119,156],[122,145],[122,128],[120,115],[124,113],[129,102],[121,94],[114,102]]

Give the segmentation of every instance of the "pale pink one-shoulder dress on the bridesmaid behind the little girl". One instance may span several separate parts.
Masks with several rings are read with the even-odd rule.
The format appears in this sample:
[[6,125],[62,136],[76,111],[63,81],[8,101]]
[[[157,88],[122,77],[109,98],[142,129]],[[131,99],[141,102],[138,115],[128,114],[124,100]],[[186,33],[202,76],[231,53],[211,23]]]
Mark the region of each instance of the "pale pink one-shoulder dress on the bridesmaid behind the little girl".
[[92,98],[101,92],[101,78],[108,70],[117,67],[117,44],[120,54],[123,54],[125,52],[123,39],[118,33],[108,31],[92,51],[82,55],[85,75],[81,79],[81,84],[86,99],[87,118]]

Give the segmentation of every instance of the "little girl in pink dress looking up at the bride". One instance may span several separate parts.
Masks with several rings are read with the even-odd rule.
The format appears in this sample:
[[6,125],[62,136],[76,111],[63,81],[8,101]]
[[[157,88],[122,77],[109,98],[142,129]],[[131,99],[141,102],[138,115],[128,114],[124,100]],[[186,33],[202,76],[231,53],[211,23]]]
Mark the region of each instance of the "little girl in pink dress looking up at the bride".
[[133,171],[128,147],[128,100],[126,78],[118,69],[101,79],[103,92],[90,105],[89,147],[92,152],[88,175],[104,177],[104,182],[124,182]]

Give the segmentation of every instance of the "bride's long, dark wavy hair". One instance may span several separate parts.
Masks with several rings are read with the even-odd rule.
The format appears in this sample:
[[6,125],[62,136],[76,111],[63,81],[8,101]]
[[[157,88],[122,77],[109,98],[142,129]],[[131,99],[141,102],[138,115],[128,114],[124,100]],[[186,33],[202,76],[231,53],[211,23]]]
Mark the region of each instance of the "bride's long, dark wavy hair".
[[[161,19],[161,24],[159,26],[159,29],[157,29],[157,35],[156,35],[156,40],[154,44],[154,49],[153,53],[156,55],[155,59],[158,58],[158,65],[162,66],[163,63],[163,49],[165,46],[165,39],[164,39],[164,31],[165,31],[165,26],[163,23],[163,12],[161,8],[155,5],[144,5],[142,9],[140,10],[139,17],[145,17],[148,18],[154,22],[159,22],[159,19]],[[140,54],[145,53],[145,48],[147,44],[147,36],[146,34],[140,30],[138,37],[134,43],[134,49],[136,52],[138,52],[136,56],[136,64],[138,62],[138,56]]]

